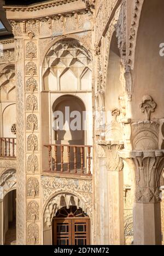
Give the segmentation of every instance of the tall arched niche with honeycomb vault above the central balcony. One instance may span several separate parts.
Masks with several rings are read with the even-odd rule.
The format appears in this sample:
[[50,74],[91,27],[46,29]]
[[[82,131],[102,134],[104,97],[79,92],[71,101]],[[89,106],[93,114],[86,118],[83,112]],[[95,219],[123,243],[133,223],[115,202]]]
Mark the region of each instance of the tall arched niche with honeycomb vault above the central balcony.
[[[42,66],[42,169],[48,159],[48,151],[44,144],[55,144],[57,141],[67,141],[72,144],[74,135],[61,138],[55,137],[52,129],[54,121],[54,103],[58,101],[60,109],[74,105],[73,110],[79,110],[79,102],[83,102],[80,112],[86,111],[85,135],[80,133],[76,144],[92,144],[92,60],[84,44],[74,38],[57,41],[46,53]],[[74,97],[75,96],[75,97]],[[69,99],[68,99],[69,98]],[[59,100],[58,100],[59,99]],[[65,99],[66,100],[66,99]],[[69,102],[68,102],[69,101]],[[63,104],[63,105],[62,105]],[[84,107],[85,106],[85,107]],[[67,132],[68,135],[68,132]],[[66,136],[65,136],[66,137]],[[85,137],[85,140],[83,140]]]

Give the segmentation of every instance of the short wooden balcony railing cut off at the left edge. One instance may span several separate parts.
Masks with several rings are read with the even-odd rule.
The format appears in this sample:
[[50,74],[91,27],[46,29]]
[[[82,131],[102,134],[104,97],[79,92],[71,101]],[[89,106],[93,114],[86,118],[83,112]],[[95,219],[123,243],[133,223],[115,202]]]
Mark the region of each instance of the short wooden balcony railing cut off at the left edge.
[[16,138],[0,137],[0,157],[16,157]]

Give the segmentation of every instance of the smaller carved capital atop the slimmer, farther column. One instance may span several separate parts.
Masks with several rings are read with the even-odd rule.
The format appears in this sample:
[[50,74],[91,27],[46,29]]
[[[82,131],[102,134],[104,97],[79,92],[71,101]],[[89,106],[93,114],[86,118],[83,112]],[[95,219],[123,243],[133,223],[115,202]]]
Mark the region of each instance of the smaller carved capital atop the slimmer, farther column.
[[124,167],[122,159],[118,155],[118,151],[124,148],[122,141],[98,141],[103,147],[107,157],[108,171],[121,171]]

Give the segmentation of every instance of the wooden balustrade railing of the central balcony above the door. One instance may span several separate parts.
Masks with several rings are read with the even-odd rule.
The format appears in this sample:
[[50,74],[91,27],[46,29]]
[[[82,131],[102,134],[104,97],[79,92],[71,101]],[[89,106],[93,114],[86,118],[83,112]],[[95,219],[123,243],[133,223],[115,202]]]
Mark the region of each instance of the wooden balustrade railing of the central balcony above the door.
[[47,144],[48,172],[91,175],[91,148],[85,145]]

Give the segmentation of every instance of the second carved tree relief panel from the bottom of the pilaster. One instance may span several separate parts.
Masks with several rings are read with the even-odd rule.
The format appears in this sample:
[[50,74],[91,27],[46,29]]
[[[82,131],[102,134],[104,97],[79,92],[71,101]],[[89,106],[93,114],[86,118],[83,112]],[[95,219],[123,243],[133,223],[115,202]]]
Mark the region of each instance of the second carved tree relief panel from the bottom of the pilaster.
[[36,201],[31,201],[27,205],[27,220],[39,220],[39,204]]

